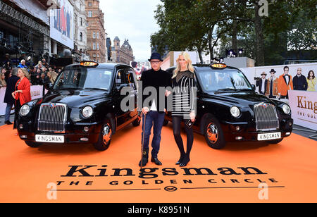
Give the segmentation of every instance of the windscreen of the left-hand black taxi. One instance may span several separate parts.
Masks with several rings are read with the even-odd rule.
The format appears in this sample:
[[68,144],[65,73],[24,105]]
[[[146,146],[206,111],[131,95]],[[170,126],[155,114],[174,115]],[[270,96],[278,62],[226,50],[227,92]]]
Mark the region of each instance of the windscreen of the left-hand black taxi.
[[103,68],[70,68],[63,70],[54,89],[104,89],[111,86],[113,70]]

